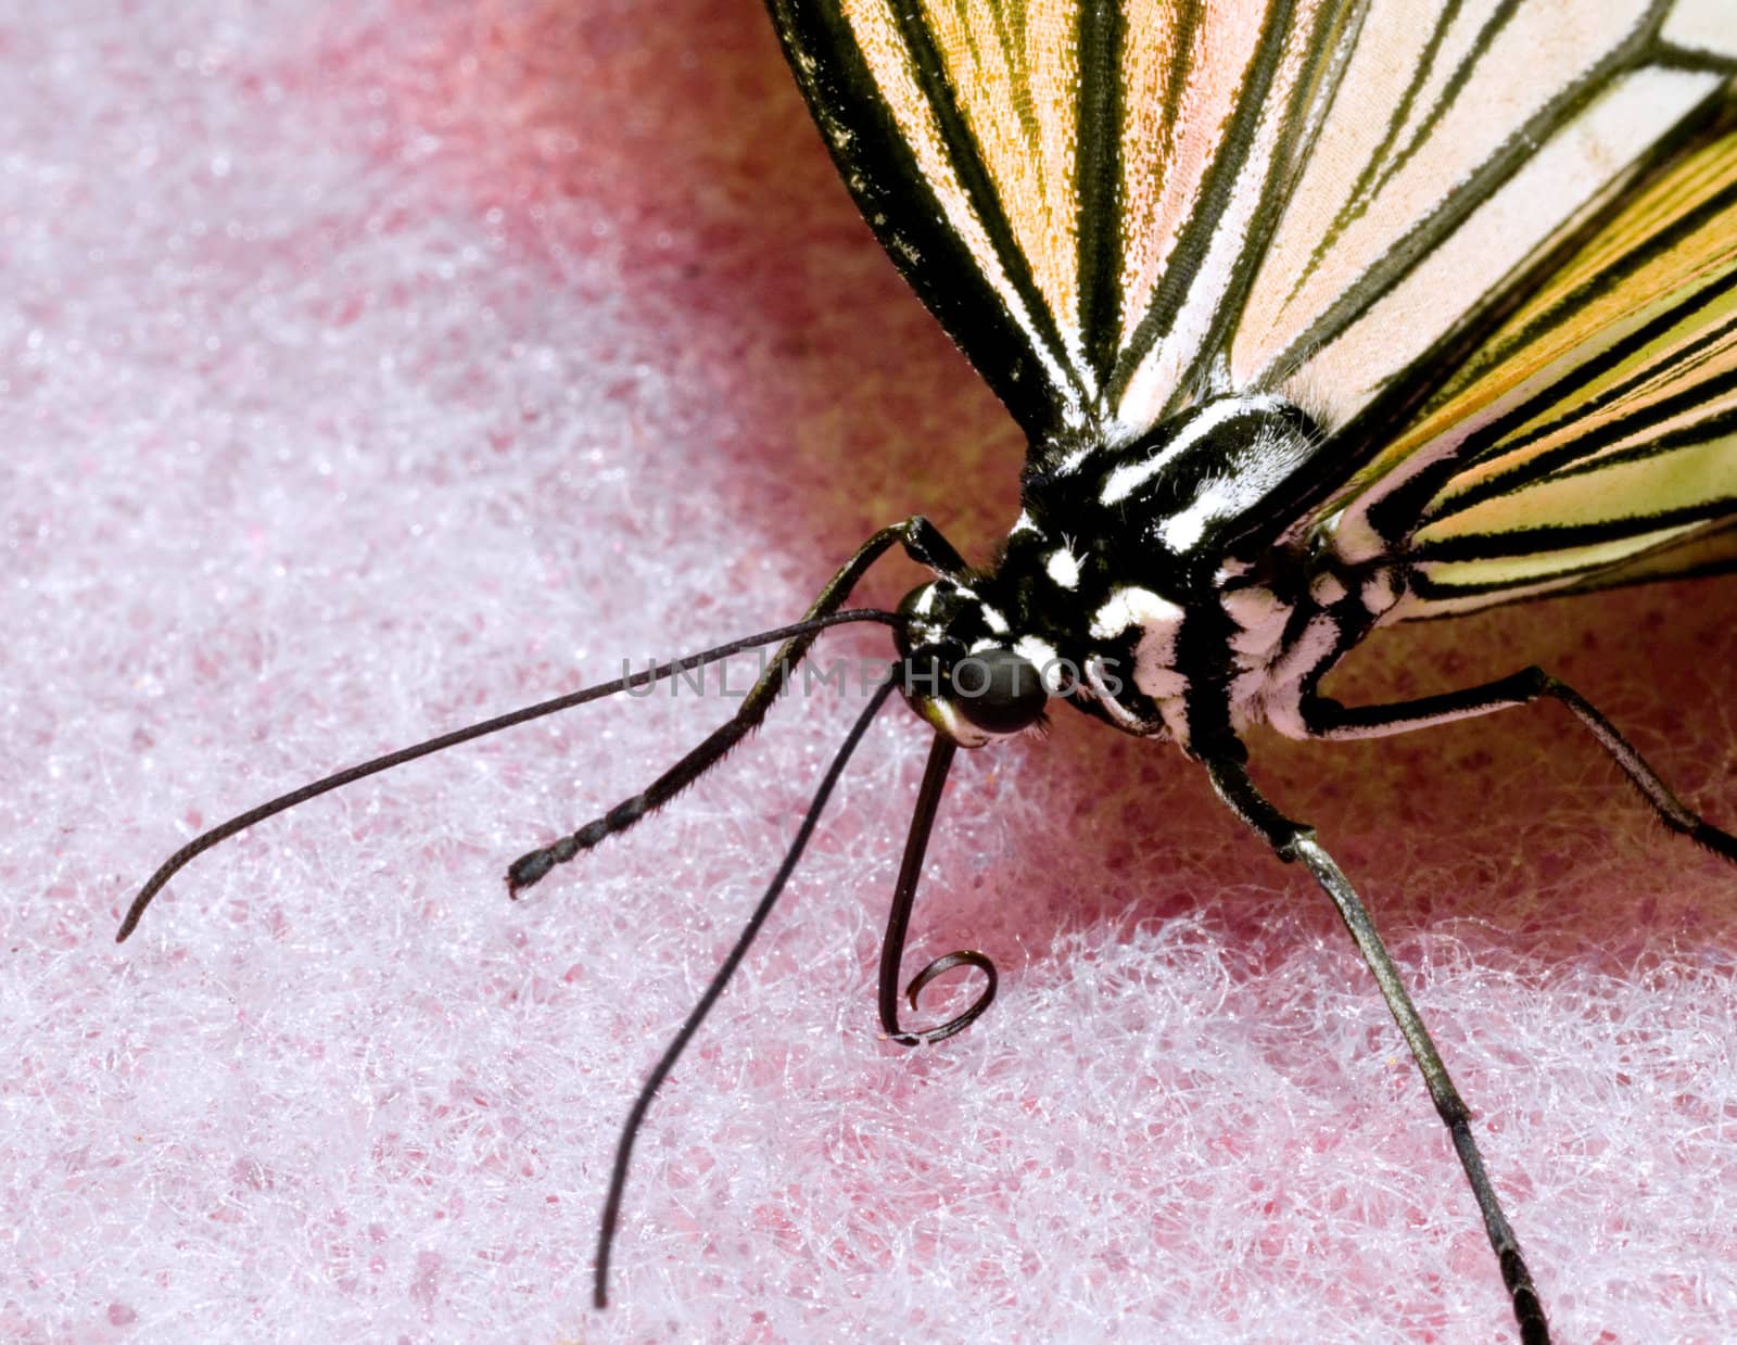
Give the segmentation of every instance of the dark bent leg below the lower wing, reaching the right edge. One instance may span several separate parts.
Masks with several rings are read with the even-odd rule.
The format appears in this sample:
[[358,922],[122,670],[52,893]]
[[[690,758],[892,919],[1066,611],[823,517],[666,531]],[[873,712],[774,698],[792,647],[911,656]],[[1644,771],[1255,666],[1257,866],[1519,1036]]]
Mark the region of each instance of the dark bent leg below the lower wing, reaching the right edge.
[[1541,667],[1523,667],[1513,676],[1497,678],[1482,686],[1426,695],[1391,706],[1348,709],[1336,700],[1313,697],[1304,700],[1299,709],[1308,737],[1344,740],[1410,733],[1417,728],[1494,714],[1501,709],[1530,706],[1546,699],[1565,706],[1598,739],[1598,745],[1622,768],[1622,773],[1629,777],[1629,782],[1664,825],[1737,864],[1737,836],[1714,827],[1678,799],[1645,758],[1635,751],[1635,745],[1586,697]]

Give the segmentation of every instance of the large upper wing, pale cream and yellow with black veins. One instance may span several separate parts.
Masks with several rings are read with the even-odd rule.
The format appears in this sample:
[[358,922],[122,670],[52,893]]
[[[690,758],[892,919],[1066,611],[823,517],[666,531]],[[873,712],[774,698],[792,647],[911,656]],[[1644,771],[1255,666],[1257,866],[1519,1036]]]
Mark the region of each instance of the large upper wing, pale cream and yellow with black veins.
[[1728,0],[769,7],[922,301],[1034,441],[1106,443],[1207,391],[1344,424],[1440,381],[1709,115],[1737,28]]

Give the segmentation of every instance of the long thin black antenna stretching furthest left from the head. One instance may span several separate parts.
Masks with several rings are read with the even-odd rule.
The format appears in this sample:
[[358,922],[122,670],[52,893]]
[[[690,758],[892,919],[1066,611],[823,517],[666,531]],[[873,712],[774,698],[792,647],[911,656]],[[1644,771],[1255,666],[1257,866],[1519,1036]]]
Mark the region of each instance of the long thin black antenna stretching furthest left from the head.
[[664,678],[672,678],[677,672],[686,672],[695,667],[705,667],[707,664],[716,664],[721,659],[728,659],[743,650],[761,648],[763,645],[773,645],[782,639],[799,639],[802,636],[813,638],[820,631],[830,626],[846,626],[849,622],[881,622],[882,626],[900,626],[903,617],[896,612],[879,612],[872,608],[858,608],[851,612],[832,612],[818,617],[809,617],[799,620],[794,626],[780,626],[775,631],[761,631],[759,634],[743,636],[742,639],[731,639],[728,645],[719,645],[717,648],[705,650],[703,653],[690,653],[683,659],[676,659],[667,664],[658,664],[657,667],[648,667],[641,672],[632,672],[625,678],[617,678],[615,681],[598,683],[596,686],[585,686],[578,692],[570,692],[566,695],[558,695],[552,700],[542,700],[535,706],[526,706],[525,709],[512,711],[511,714],[500,714],[493,719],[485,719],[483,723],[471,725],[469,728],[459,728],[452,733],[441,733],[439,737],[429,739],[427,742],[419,742],[415,747],[401,747],[396,752],[387,752],[386,756],[377,756],[372,761],[363,761],[360,766],[349,766],[335,775],[327,775],[323,780],[314,780],[301,789],[292,789],[288,794],[281,794],[269,803],[262,803],[257,808],[248,808],[245,813],[231,817],[228,822],[212,827],[201,836],[188,841],[181,850],[163,860],[162,867],[151,879],[139,888],[139,895],[132,898],[132,905],[127,907],[127,918],[120,923],[120,930],[115,935],[116,944],[125,944],[127,935],[130,935],[137,926],[139,919],[144,916],[144,909],[151,904],[151,898],[162,891],[163,885],[168,883],[189,860],[198,858],[214,845],[228,841],[240,831],[247,831],[255,822],[264,822],[267,817],[281,813],[294,808],[307,799],[320,798],[334,789],[342,789],[347,784],[354,784],[368,775],[379,775],[382,770],[391,770],[393,766],[401,766],[406,761],[415,761],[419,756],[431,756],[433,752],[441,752],[448,747],[457,747],[460,742],[469,742],[471,739],[481,739],[488,733],[499,733],[504,728],[512,728],[516,725],[528,723],[532,719],[540,719],[545,714],[556,714],[558,711],[571,709],[573,706],[584,706],[591,700],[603,700],[618,692],[625,692],[631,686],[646,686]]

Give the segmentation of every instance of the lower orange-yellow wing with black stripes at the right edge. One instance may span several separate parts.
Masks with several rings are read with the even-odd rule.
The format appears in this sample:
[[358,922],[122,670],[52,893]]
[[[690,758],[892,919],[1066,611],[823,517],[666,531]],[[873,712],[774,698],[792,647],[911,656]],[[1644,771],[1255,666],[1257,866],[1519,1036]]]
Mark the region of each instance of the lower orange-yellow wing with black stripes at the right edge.
[[[1737,132],[1638,189],[1332,511],[1390,620],[1737,558]],[[1403,539],[1403,540],[1402,540]]]

